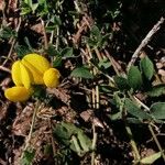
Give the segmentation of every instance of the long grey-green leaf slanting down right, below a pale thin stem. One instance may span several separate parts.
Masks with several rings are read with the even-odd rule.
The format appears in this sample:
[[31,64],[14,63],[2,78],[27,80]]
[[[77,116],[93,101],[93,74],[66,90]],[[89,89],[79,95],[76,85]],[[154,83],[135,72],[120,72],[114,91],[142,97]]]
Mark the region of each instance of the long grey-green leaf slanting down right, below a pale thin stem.
[[133,116],[135,118],[142,119],[142,120],[144,120],[144,119],[151,120],[152,119],[152,117],[147,112],[141,110],[129,98],[125,99],[124,108],[128,111],[128,113],[130,113],[131,116]]

